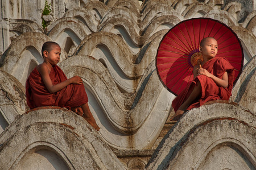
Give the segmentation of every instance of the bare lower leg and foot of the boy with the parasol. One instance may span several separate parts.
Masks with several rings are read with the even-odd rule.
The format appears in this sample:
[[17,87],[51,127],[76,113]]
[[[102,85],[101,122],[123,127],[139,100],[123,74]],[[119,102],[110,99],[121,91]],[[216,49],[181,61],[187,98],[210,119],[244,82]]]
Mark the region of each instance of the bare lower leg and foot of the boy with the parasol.
[[188,108],[192,101],[194,101],[201,94],[201,84],[197,81],[197,86],[193,87],[193,90],[187,100],[179,107],[176,113],[171,117],[170,121],[179,121],[184,111]]

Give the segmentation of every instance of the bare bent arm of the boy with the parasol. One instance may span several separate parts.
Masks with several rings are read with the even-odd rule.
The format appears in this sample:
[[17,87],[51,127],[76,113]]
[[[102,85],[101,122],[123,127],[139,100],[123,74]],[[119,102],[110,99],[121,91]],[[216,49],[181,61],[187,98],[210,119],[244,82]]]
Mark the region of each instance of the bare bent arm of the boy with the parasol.
[[228,87],[229,84],[229,80],[228,80],[228,73],[225,72],[221,78],[218,78],[216,76],[214,76],[213,74],[209,73],[206,69],[200,68],[198,70],[198,74],[201,75],[205,75],[209,78],[212,78],[212,80],[218,85],[218,86],[222,86],[222,88],[226,88]]

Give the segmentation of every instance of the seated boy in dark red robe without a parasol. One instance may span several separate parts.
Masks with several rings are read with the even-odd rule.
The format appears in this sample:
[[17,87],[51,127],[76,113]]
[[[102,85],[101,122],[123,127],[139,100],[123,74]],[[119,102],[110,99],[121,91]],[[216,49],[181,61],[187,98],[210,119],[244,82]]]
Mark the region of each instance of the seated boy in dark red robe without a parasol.
[[100,130],[88,106],[88,97],[79,76],[67,78],[56,65],[60,61],[60,46],[46,42],[42,47],[44,62],[39,64],[26,82],[27,105],[30,109],[39,106],[60,106],[75,111],[97,131]]

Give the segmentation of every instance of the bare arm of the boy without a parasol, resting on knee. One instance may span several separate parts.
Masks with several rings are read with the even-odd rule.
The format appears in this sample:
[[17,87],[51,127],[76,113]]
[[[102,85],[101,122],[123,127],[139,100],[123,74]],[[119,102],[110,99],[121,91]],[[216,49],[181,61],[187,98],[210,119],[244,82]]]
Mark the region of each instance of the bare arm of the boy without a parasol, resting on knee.
[[74,76],[72,78],[69,78],[68,80],[60,82],[59,84],[52,85],[52,81],[49,77],[49,72],[46,65],[40,65],[40,67],[38,67],[38,72],[41,74],[44,84],[46,85],[46,88],[50,93],[58,92],[69,84],[82,84],[81,77]]

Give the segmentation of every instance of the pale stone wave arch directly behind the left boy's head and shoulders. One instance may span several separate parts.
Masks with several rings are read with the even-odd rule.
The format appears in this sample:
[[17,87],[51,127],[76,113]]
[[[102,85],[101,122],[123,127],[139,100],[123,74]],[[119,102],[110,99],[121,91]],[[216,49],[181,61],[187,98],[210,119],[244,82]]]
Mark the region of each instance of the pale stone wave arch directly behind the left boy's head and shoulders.
[[[14,40],[1,56],[3,71],[17,78],[23,86],[32,69],[43,63],[41,55],[44,42],[52,41],[47,35],[38,32],[26,32]],[[67,53],[63,52],[60,60],[64,60]]]

